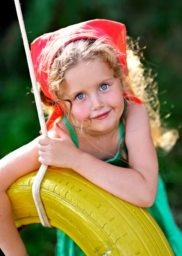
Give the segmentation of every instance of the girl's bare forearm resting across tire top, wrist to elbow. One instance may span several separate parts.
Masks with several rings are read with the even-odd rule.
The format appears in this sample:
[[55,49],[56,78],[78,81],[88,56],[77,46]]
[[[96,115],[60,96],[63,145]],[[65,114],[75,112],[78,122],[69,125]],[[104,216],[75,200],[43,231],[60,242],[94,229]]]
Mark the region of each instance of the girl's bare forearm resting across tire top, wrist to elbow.
[[84,152],[80,152],[74,161],[73,169],[95,185],[131,204],[150,207],[154,203],[155,192],[134,169],[113,166]]

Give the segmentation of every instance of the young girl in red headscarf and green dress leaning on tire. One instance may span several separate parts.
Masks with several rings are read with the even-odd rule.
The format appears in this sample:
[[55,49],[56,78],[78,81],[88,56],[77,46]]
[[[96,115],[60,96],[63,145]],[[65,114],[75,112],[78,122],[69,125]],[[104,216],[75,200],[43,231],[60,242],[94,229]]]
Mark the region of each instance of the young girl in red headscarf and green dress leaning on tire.
[[[74,169],[118,198],[147,207],[175,255],[182,255],[182,234],[158,178],[155,149],[174,144],[176,136],[160,125],[156,93],[144,90],[151,78],[126,46],[125,26],[110,20],[75,24],[37,38],[31,55],[50,137],[37,137],[0,162],[5,255],[28,255],[6,190],[41,164]],[[84,255],[60,230],[57,240],[58,256]]]

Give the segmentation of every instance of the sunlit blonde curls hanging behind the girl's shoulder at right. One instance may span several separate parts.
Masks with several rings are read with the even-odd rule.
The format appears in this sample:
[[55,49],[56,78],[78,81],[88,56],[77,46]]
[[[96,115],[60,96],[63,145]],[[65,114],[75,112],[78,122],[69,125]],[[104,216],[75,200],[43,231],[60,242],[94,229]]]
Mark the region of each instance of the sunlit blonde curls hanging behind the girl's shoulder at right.
[[152,68],[145,68],[141,58],[145,61],[143,52],[139,48],[139,38],[134,41],[127,37],[127,64],[132,89],[135,96],[141,99],[147,108],[155,147],[162,148],[163,152],[168,153],[179,138],[179,132],[176,129],[167,128],[165,122],[162,122],[158,83],[155,81],[156,73],[152,73]]

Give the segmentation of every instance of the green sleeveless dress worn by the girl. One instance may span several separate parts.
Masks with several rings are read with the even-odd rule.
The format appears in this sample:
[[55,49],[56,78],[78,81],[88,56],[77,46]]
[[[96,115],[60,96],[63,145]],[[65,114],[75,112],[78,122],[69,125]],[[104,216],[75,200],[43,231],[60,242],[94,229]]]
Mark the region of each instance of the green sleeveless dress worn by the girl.
[[[63,117],[62,120],[70,132],[71,139],[78,148],[77,134],[74,127],[71,126],[67,118]],[[123,157],[119,153],[119,147],[124,137],[124,126],[122,121],[119,123],[119,134],[120,140],[117,154],[115,157],[108,159],[105,162],[115,166],[129,168],[128,164],[126,165],[126,163],[122,161]],[[123,146],[123,150],[127,151],[126,145]],[[153,206],[147,209],[168,239],[175,256],[182,256],[182,233],[174,221],[168,204],[165,185],[160,176],[156,200]],[[69,236],[57,229],[56,256],[85,256],[85,253],[82,252],[80,247]]]

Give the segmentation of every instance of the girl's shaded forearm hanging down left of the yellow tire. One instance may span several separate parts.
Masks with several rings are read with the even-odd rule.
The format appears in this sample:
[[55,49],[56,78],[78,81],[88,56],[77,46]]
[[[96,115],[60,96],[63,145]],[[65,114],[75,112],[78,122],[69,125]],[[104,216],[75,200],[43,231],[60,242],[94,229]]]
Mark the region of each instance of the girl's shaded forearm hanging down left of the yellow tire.
[[9,198],[4,191],[0,191],[0,248],[6,256],[28,256],[14,224]]

